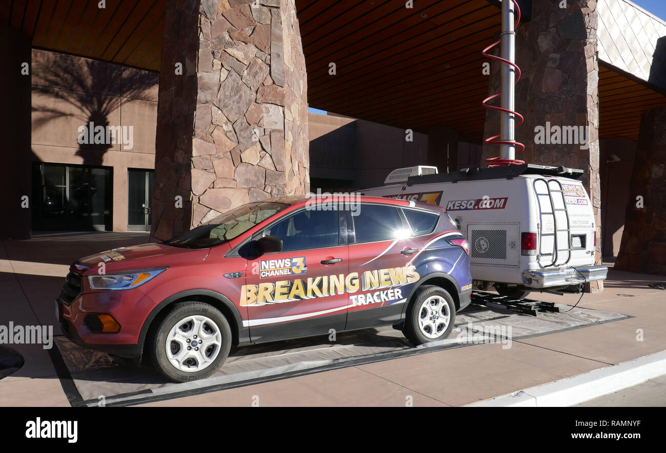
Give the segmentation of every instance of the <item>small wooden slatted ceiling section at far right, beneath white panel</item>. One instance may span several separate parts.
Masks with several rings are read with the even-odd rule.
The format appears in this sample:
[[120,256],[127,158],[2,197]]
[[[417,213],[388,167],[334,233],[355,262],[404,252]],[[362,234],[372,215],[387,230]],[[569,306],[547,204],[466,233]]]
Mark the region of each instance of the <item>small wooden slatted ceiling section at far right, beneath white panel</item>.
[[599,66],[599,138],[638,141],[641,115],[661,105],[666,105],[664,94]]

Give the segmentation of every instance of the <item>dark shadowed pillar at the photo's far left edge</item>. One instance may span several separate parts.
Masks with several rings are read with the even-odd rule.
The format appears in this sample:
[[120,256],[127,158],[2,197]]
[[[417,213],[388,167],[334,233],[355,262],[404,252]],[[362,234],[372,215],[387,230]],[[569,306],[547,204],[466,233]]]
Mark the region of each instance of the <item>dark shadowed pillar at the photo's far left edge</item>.
[[29,239],[31,208],[36,201],[33,200],[30,187],[30,38],[18,30],[1,25],[0,56],[7,67],[0,75],[0,83],[5,87],[3,108],[0,109],[0,131],[4,131],[1,132],[4,152],[3,164],[0,166],[0,179],[3,182],[0,212],[5,216],[5,222],[0,224],[0,238]]

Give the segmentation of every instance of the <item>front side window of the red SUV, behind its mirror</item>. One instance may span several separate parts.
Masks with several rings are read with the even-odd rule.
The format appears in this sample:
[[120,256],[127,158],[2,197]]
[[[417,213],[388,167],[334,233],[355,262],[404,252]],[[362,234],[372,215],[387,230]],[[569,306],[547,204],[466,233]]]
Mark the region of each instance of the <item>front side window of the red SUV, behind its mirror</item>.
[[303,210],[264,230],[282,239],[282,251],[333,247],[339,243],[338,211]]

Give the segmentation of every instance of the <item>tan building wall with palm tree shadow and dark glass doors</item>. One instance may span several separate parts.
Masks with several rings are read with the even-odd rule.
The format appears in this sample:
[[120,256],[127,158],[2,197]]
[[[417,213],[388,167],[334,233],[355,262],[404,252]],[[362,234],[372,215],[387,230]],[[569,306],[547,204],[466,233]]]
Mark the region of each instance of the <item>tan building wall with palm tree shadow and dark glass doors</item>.
[[159,75],[31,57],[32,229],[149,230]]

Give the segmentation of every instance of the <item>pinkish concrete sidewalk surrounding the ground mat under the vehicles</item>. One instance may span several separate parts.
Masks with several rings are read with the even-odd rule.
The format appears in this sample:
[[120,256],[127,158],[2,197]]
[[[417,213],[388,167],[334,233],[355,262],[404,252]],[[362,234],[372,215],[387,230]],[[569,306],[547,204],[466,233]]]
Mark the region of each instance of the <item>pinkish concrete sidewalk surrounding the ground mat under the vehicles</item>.
[[[53,299],[69,263],[112,247],[147,241],[145,233],[62,233],[2,241],[0,324],[53,324]],[[659,275],[609,271],[603,293],[583,295],[580,307],[625,313],[631,319],[522,341],[472,345],[146,404],[148,406],[461,406],[573,377],[666,349],[666,291]],[[539,295],[573,305],[579,295]],[[54,333],[59,334],[58,327]],[[11,345],[25,365],[0,380],[0,405],[67,406],[41,345]],[[666,406],[666,401],[663,404]]]

